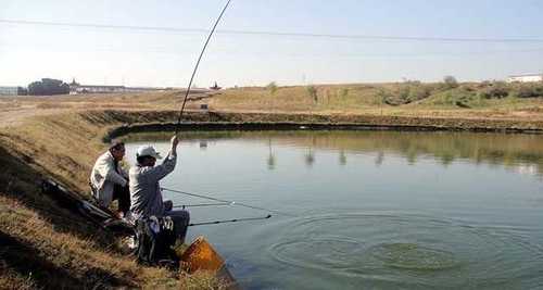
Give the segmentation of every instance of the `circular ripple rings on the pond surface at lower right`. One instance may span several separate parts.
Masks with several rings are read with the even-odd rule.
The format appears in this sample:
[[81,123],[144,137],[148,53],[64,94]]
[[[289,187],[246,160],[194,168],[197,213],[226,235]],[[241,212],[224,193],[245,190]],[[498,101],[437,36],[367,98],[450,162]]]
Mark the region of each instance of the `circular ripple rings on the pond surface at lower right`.
[[526,277],[541,282],[543,266],[541,245],[506,228],[408,214],[300,218],[268,253],[285,265],[396,286],[515,287],[522,279],[526,286]]

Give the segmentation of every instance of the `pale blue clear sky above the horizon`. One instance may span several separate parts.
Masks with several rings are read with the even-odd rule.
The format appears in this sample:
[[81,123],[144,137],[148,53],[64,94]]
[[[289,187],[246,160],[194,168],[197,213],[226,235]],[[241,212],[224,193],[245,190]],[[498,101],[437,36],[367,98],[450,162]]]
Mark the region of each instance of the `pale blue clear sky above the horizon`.
[[[209,29],[225,1],[2,0],[0,85],[41,77],[84,84],[187,86],[205,34],[7,23]],[[224,86],[503,79],[543,71],[539,0],[232,0],[195,84]],[[220,30],[539,41],[414,41]]]

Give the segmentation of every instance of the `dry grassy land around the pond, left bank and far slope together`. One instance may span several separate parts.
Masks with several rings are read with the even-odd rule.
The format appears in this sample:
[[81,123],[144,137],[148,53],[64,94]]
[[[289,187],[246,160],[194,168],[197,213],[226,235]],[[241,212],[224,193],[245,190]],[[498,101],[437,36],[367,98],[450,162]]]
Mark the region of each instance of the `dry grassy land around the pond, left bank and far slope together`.
[[[504,86],[241,88],[210,99],[214,113],[192,115],[192,119],[543,129],[542,98],[530,94],[538,88]],[[177,279],[178,274],[138,266],[112,245],[109,234],[39,193],[39,179],[45,176],[87,192],[88,173],[104,150],[102,138],[109,129],[175,121],[179,101],[177,92],[0,99],[0,288],[216,282],[205,275]]]

